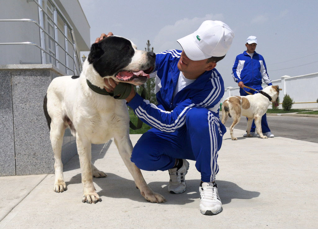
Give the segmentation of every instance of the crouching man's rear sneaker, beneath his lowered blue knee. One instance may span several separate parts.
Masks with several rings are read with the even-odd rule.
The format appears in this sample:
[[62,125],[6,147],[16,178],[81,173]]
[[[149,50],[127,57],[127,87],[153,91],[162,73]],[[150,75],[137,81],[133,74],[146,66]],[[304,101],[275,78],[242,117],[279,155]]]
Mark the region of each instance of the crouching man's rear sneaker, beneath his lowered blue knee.
[[185,174],[189,170],[189,162],[186,159],[182,159],[183,165],[180,169],[169,169],[170,181],[168,185],[168,191],[173,194],[183,193],[187,189],[185,182]]

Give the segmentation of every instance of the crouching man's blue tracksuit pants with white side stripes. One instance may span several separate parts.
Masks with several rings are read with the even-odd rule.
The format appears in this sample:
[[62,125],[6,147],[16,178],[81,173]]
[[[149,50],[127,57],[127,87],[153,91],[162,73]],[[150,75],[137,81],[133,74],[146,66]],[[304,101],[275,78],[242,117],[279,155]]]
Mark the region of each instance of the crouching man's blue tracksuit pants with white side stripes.
[[136,143],[131,161],[147,171],[165,171],[176,158],[196,161],[203,182],[212,182],[219,171],[218,150],[225,126],[216,114],[204,107],[194,107],[186,114],[186,125],[175,132],[155,128],[144,133]]

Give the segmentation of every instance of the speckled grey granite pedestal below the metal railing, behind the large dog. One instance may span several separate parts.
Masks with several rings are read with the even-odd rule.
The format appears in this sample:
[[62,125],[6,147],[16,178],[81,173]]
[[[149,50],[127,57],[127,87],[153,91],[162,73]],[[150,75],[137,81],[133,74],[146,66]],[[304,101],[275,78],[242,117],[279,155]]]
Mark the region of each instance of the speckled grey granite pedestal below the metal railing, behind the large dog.
[[[0,65],[0,176],[54,173],[43,99],[52,79],[62,75],[52,64]],[[62,162],[76,153],[66,131]]]

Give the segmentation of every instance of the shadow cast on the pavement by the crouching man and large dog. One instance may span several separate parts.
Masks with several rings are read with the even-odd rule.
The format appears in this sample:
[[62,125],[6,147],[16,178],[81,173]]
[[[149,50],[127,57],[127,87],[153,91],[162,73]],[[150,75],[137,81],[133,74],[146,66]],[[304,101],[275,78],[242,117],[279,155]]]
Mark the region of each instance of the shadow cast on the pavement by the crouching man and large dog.
[[[136,189],[134,180],[122,178],[113,173],[107,173],[107,178],[93,178],[93,182],[98,185],[102,190],[98,192],[98,195],[110,198],[128,198],[138,202],[145,202],[146,200],[140,194],[139,189]],[[232,199],[252,199],[259,196],[259,192],[253,192],[244,190],[237,184],[225,181],[217,180],[218,193],[222,200],[222,204],[228,204]],[[77,174],[66,182],[66,185],[81,183],[81,174]],[[163,195],[167,202],[164,204],[176,204],[184,205],[196,201],[199,199],[199,179],[187,180],[187,190],[182,194],[171,194],[168,192],[168,182],[154,181],[148,185],[154,191]],[[106,199],[106,198],[104,198]]]

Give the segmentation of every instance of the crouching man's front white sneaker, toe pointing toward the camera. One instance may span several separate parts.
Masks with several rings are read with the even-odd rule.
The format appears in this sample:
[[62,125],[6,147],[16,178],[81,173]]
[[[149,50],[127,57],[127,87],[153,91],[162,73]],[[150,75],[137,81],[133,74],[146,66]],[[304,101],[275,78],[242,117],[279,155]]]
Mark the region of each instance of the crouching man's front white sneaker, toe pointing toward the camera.
[[203,182],[199,187],[200,192],[200,212],[204,215],[216,215],[222,212],[221,199],[218,196],[218,186],[216,183]]

